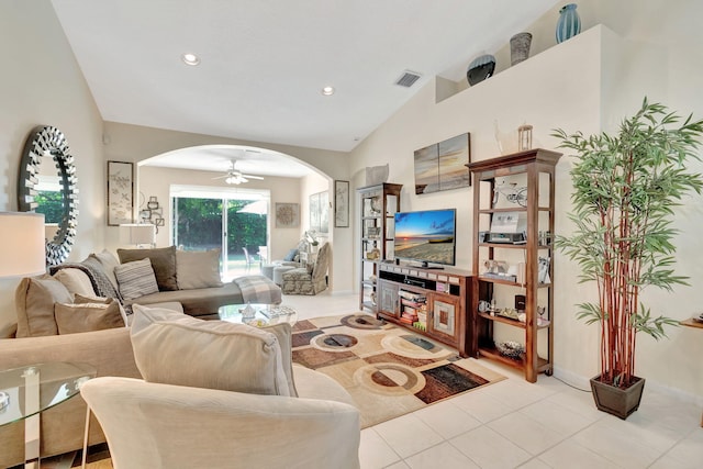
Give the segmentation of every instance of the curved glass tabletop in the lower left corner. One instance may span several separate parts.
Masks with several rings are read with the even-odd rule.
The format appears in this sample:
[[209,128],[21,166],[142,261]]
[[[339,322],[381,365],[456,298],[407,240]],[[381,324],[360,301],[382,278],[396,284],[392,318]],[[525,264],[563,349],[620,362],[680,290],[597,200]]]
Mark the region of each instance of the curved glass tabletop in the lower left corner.
[[0,371],[0,426],[21,421],[80,392],[97,370],[88,364],[46,362]]

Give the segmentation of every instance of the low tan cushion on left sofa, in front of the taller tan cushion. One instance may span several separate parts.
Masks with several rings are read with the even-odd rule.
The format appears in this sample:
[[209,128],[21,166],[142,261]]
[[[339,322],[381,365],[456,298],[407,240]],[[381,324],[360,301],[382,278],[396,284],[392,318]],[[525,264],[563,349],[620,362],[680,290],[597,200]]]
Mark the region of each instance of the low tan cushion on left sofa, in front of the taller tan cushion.
[[56,303],[54,314],[59,334],[102,331],[126,325],[120,314],[120,303],[115,299],[110,299],[107,303]]

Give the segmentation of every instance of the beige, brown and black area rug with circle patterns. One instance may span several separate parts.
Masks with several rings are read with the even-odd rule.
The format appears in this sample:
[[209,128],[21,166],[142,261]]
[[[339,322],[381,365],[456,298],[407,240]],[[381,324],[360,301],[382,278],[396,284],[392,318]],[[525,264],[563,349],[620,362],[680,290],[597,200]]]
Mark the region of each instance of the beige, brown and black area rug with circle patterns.
[[299,321],[292,346],[294,362],[330,376],[352,394],[362,428],[505,379],[364,313]]

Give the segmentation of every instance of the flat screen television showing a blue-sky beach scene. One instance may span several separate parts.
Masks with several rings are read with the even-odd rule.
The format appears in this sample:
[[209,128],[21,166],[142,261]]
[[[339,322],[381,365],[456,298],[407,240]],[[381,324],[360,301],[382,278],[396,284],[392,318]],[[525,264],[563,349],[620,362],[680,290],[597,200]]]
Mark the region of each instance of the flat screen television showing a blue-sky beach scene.
[[456,209],[395,213],[395,258],[425,268],[432,268],[431,264],[454,266],[456,215]]

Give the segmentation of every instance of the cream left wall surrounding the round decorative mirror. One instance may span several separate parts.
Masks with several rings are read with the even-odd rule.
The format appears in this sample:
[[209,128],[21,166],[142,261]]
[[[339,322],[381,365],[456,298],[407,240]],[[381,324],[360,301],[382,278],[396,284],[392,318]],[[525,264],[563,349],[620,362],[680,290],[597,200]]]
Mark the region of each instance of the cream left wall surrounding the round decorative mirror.
[[[102,245],[102,119],[48,0],[0,2],[0,210],[15,211],[24,142],[40,124],[62,130],[75,157],[80,214],[70,260]],[[0,242],[2,242],[0,239]],[[0,328],[16,320],[18,280],[0,280]]]

